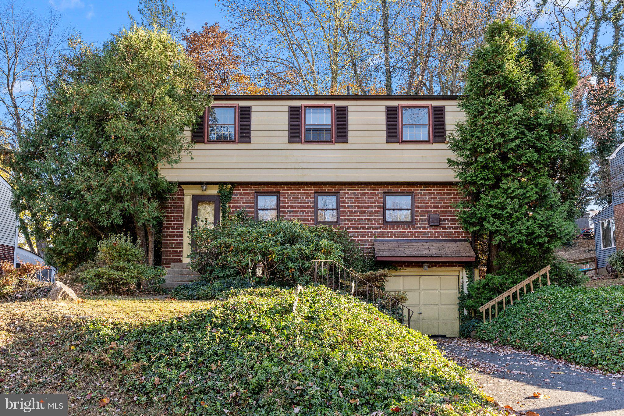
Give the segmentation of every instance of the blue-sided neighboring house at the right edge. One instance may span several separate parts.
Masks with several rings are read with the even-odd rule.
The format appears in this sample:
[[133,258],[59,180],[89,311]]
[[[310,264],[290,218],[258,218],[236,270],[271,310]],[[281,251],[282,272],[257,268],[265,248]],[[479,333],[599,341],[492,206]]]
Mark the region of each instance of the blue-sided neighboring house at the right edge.
[[624,143],[611,154],[612,203],[592,216],[596,243],[596,268],[605,274],[607,257],[624,244]]

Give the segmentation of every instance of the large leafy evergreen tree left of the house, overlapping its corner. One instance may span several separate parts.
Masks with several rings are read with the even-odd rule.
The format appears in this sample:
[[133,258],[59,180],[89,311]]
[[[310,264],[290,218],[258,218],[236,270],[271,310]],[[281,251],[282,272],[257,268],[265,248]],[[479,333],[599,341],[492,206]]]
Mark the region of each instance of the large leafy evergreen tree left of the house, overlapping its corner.
[[49,260],[70,268],[109,233],[135,231],[154,264],[162,203],[175,185],[158,165],[192,147],[180,133],[208,104],[196,71],[165,31],[134,26],[101,50],[81,44],[54,84],[37,130],[10,159],[14,206],[41,201]]

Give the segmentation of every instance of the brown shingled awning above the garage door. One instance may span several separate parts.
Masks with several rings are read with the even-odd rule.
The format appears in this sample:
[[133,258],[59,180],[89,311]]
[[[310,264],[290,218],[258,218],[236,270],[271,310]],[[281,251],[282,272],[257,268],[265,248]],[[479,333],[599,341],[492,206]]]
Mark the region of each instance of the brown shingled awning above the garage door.
[[474,250],[465,239],[374,239],[379,261],[474,261]]

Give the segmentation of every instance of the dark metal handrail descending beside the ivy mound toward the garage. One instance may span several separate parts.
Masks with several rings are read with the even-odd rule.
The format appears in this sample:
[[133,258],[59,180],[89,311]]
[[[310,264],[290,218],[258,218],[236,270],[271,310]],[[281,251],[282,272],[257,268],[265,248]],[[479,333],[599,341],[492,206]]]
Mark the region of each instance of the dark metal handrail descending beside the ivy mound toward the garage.
[[[371,302],[371,297],[373,303],[375,300],[379,301],[379,299],[386,299],[390,304],[394,305],[394,308],[401,307],[401,323],[406,325],[407,327],[411,327],[412,317],[414,316],[414,311],[409,309],[409,307],[405,306],[401,302],[394,299],[394,297],[390,296],[388,293],[383,290],[373,286],[373,284],[369,283],[365,279],[361,278],[354,271],[349,270],[344,267],[342,264],[338,263],[335,260],[313,260],[314,264],[314,275],[313,281],[314,283],[323,284],[323,280],[325,281],[325,285],[328,288],[338,290],[341,289],[345,292],[351,293],[351,296],[358,296],[364,300],[364,296],[358,295],[358,284],[361,288],[366,288],[366,301]],[[338,269],[338,279],[336,279],[336,269]],[[331,272],[330,272],[331,270]],[[330,283],[330,274],[331,274],[331,283]],[[349,277],[349,279],[347,279]],[[320,278],[320,282],[319,282]],[[341,282],[341,278],[344,281]],[[349,286],[346,285],[347,281],[350,281]],[[342,287],[341,287],[342,284]],[[375,299],[375,295],[377,295],[377,299]]]

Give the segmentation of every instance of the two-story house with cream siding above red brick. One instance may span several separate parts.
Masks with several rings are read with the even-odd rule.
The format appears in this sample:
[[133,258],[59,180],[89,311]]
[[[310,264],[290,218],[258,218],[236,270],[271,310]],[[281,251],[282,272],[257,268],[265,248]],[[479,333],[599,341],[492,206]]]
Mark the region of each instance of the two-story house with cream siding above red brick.
[[414,328],[457,336],[457,297],[474,261],[456,218],[446,137],[461,120],[448,95],[215,96],[192,132],[192,157],[162,166],[179,186],[167,203],[162,263],[188,261],[188,230],[219,221],[218,183],[230,208],[258,220],[298,219],[348,231],[399,268],[387,291],[406,291]]

